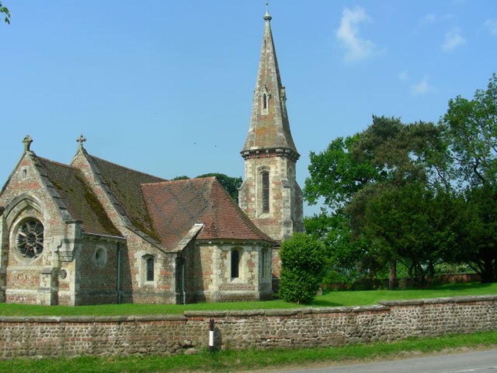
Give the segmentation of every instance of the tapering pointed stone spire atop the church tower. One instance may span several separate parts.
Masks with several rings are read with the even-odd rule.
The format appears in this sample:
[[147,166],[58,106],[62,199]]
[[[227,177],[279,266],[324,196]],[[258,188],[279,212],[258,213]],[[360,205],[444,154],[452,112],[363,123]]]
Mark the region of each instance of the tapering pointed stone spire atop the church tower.
[[242,149],[242,156],[264,152],[278,152],[291,156],[294,160],[299,153],[290,132],[286,112],[285,87],[276,59],[270,21],[272,17],[267,11],[264,14],[264,32],[260,50],[257,80],[252,101],[252,112],[247,139]]

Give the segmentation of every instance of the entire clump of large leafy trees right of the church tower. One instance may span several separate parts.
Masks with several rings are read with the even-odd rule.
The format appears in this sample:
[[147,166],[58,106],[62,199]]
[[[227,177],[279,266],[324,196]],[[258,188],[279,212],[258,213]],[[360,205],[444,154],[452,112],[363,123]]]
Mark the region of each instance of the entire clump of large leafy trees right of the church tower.
[[496,75],[473,99],[450,100],[438,125],[373,117],[365,131],[311,153],[309,170],[305,196],[324,207],[306,229],[332,257],[356,253],[356,268],[373,276],[388,265],[395,274],[397,262],[412,277],[464,262],[497,281]]

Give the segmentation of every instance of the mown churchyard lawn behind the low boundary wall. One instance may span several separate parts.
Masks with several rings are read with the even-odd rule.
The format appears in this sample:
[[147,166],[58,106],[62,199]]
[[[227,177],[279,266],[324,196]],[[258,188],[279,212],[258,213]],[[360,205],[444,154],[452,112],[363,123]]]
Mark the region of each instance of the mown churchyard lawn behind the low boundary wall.
[[37,306],[0,303],[2,316],[76,316],[76,315],[156,315],[182,314],[186,310],[280,309],[296,307],[335,307],[377,304],[381,300],[440,298],[465,295],[497,294],[497,283],[460,283],[433,286],[421,290],[330,291],[316,297],[312,304],[263,302],[195,304],[104,304],[96,306]]

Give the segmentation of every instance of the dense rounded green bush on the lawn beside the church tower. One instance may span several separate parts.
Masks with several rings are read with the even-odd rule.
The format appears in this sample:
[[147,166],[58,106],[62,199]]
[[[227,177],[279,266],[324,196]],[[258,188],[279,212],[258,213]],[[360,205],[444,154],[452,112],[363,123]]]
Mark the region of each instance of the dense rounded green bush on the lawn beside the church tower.
[[294,233],[281,243],[278,296],[287,302],[309,303],[323,280],[326,248],[311,235]]

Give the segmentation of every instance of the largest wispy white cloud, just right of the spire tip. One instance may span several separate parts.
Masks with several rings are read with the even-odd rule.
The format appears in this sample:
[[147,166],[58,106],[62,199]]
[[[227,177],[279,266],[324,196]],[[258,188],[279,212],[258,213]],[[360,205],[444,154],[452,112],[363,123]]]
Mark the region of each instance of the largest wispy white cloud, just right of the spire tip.
[[358,35],[359,24],[370,20],[371,18],[360,6],[343,9],[340,26],[335,31],[335,35],[345,48],[345,61],[365,60],[376,52],[376,45],[372,41],[362,39]]

